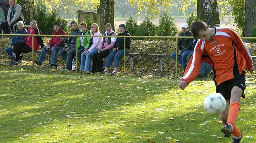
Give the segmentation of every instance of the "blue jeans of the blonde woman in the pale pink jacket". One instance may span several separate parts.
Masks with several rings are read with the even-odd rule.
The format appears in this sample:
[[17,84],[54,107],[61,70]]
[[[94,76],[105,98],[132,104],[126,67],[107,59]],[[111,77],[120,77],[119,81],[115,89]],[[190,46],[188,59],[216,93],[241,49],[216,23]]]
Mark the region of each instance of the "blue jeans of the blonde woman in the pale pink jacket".
[[85,56],[86,51],[84,51],[81,54],[81,67],[80,67],[81,71],[91,71],[91,59],[93,58],[94,55],[98,53],[98,50],[99,50],[98,48],[94,48],[86,56]]

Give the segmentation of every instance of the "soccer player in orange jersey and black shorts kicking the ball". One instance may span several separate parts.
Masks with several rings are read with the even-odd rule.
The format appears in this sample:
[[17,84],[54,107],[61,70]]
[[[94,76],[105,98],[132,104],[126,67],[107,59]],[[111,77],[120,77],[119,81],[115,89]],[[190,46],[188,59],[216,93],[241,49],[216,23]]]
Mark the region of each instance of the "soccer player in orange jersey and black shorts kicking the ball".
[[229,27],[210,28],[202,21],[194,21],[191,32],[199,40],[184,72],[184,78],[178,85],[184,90],[199,74],[202,61],[210,63],[214,71],[216,93],[221,93],[227,102],[226,110],[220,114],[224,124],[221,132],[225,137],[233,134],[232,143],[239,143],[242,134],[235,121],[240,110],[240,98],[245,98],[245,69],[254,71],[249,50]]

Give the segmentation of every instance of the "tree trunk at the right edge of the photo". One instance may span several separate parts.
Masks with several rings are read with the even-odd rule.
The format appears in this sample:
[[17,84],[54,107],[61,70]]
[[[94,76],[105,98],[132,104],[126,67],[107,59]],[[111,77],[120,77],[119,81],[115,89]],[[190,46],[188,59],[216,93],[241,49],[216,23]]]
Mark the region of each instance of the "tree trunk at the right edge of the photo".
[[256,0],[245,0],[245,31],[244,36],[251,36],[252,29],[256,25]]

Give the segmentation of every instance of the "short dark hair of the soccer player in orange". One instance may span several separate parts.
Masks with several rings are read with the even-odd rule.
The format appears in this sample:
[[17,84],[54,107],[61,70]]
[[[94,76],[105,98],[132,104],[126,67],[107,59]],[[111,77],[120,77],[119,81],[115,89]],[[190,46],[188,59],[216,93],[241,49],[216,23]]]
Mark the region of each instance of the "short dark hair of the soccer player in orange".
[[191,23],[191,33],[194,38],[197,38],[200,31],[206,31],[206,23],[203,21],[193,21]]

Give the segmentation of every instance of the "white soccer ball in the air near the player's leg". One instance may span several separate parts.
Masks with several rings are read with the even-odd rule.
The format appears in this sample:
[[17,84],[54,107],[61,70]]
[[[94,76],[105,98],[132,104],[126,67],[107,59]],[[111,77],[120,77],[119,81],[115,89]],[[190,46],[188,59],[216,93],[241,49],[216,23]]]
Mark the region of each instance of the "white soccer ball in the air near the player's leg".
[[211,93],[204,99],[207,114],[221,114],[226,109],[226,100],[220,93]]

